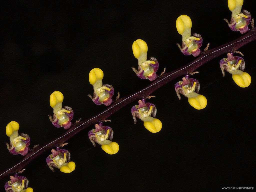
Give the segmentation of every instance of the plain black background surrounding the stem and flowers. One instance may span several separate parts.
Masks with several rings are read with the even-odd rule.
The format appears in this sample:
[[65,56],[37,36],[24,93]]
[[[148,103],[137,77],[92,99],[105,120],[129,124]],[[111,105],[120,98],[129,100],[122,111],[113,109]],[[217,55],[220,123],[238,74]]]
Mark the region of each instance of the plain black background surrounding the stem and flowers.
[[[253,1],[243,8],[255,17]],[[104,71],[103,83],[112,84],[124,97],[150,84],[132,71],[137,59],[132,43],[143,39],[148,57],[159,61],[158,74],[192,61],[184,56],[175,22],[189,15],[192,33],[203,37],[202,48],[214,48],[241,36],[229,29],[227,1],[125,1],[30,2],[12,1],[1,8],[1,170],[23,157],[6,149],[5,127],[20,125],[19,133],[29,134],[30,146],[44,144],[65,130],[55,128],[49,96],[55,90],[64,95],[63,105],[74,110],[73,120],[85,120],[104,110],[87,94],[93,93],[88,74],[92,68]],[[198,69],[193,78],[200,82],[200,94],[207,107],[196,110],[187,98],[178,101],[171,81],[155,91],[147,102],[157,107],[163,123],[159,133],[134,124],[134,101],[110,116],[104,125],[114,130],[113,141],[120,146],[108,155],[88,138],[90,126],[68,140],[76,170],[53,173],[45,159],[50,150],[25,167],[23,176],[34,191],[219,191],[221,187],[252,187],[255,178],[255,42],[239,49],[245,71],[252,77],[248,88],[238,87],[232,76],[222,78],[219,60],[226,53]],[[113,98],[114,98],[113,97]],[[1,190],[8,177],[0,182]]]

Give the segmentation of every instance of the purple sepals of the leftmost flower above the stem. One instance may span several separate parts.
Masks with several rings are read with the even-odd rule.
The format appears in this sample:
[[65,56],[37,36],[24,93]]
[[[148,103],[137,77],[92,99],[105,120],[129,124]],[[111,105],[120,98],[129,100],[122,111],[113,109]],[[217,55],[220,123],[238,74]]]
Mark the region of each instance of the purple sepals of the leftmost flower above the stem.
[[26,140],[24,139],[20,139],[23,145],[23,149],[21,150],[17,150],[16,147],[14,147],[12,141],[10,142],[10,145],[8,143],[6,143],[7,149],[9,150],[9,152],[13,155],[17,155],[17,154],[21,154],[23,156],[27,155],[28,153],[28,146],[30,145],[30,138],[27,134],[25,133],[20,133],[19,136],[24,137]]

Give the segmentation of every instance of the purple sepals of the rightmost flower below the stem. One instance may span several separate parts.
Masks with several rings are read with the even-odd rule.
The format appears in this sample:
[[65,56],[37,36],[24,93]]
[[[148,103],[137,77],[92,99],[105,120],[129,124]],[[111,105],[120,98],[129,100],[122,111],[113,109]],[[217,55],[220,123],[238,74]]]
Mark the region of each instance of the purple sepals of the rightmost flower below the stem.
[[241,61],[240,66],[237,69],[240,69],[241,71],[244,71],[245,67],[245,61],[243,60],[242,57],[240,56],[233,56],[233,53],[228,53],[228,58],[223,58],[220,60],[220,68],[223,74],[223,77],[225,76],[225,71],[229,72],[230,70],[230,65],[228,64],[229,61],[234,61],[234,67],[237,66],[238,62]]

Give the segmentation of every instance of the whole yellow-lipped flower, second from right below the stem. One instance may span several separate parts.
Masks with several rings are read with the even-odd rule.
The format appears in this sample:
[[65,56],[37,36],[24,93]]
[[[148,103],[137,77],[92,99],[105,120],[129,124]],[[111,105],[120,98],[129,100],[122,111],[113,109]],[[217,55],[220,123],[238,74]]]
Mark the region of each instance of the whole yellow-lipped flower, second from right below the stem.
[[[188,98],[188,102],[195,109],[204,109],[207,105],[207,99],[204,95],[199,93],[200,84],[196,79],[186,77],[182,78],[182,81],[179,81],[175,84],[175,91],[180,100],[180,95],[183,94]],[[196,92],[195,92],[196,91]]]

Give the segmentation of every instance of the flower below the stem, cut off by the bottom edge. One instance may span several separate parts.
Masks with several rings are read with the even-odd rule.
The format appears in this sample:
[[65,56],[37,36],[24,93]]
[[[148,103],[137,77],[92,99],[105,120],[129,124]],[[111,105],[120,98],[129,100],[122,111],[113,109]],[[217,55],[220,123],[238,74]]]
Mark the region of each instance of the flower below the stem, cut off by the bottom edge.
[[33,188],[28,187],[28,179],[23,176],[10,176],[10,181],[5,185],[6,192],[33,192]]

